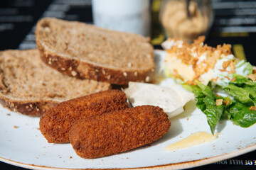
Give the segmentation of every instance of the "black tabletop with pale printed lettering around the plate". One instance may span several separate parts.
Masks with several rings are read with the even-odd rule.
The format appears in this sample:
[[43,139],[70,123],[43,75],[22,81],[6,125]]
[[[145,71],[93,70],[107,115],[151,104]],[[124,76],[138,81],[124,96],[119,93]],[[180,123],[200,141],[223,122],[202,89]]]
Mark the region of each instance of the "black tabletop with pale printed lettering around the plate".
[[[151,0],[151,43],[161,49],[164,34],[158,21],[161,0]],[[228,43],[236,57],[256,65],[256,1],[212,0],[215,21],[206,43]],[[2,0],[0,1],[0,50],[36,48],[35,24],[43,17],[92,23],[91,0]],[[193,169],[255,169],[256,151]],[[1,169],[23,169],[0,162]]]

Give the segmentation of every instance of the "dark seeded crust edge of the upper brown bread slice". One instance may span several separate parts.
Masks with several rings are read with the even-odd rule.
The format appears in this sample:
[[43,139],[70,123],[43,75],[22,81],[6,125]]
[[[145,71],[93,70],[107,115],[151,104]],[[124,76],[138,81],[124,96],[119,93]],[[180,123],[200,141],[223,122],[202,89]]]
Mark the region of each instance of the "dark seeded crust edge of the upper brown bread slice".
[[[41,59],[53,69],[68,74],[71,77],[82,77],[110,84],[127,85],[129,81],[150,82],[154,75],[154,67],[147,69],[125,70],[123,68],[114,69],[100,64],[92,64],[71,57],[66,57],[58,52],[54,52],[50,47],[41,42],[39,38],[40,21],[36,26],[36,45],[41,52]],[[154,49],[151,47],[148,54],[149,60],[154,58]]]

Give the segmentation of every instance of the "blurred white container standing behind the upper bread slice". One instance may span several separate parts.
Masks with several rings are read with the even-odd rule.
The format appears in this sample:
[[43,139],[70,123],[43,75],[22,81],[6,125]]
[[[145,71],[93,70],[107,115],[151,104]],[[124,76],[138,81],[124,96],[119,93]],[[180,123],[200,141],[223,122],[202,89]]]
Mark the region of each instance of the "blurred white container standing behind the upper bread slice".
[[95,26],[150,35],[149,0],[92,0]]

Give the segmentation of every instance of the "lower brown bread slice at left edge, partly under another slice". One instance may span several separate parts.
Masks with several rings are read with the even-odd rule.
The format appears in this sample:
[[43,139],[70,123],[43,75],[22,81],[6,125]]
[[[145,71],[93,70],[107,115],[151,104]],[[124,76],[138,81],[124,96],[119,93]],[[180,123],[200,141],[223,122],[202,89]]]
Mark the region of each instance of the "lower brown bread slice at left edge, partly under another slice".
[[61,74],[41,61],[38,50],[0,52],[0,102],[11,111],[39,116],[55,103],[110,87]]

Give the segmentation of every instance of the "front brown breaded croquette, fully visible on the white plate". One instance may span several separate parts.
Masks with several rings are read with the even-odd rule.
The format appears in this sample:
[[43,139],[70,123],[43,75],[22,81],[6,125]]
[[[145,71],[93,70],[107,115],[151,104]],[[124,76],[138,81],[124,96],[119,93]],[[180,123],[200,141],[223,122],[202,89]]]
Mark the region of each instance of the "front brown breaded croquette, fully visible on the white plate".
[[77,120],[69,136],[78,156],[92,159],[147,145],[170,126],[163,109],[137,106]]

